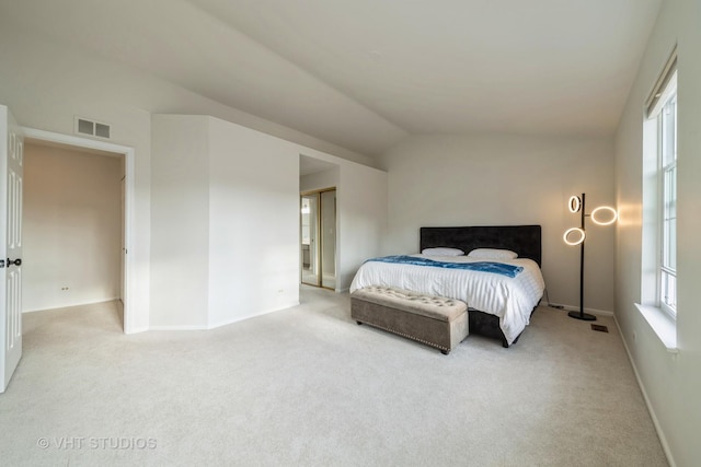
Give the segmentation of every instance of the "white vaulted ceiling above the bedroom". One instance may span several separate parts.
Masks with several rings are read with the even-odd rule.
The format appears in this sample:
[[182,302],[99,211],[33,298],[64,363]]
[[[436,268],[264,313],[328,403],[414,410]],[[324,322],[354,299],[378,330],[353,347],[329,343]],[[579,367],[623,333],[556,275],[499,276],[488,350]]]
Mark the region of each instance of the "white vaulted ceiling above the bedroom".
[[611,136],[662,0],[3,0],[5,20],[349,150]]

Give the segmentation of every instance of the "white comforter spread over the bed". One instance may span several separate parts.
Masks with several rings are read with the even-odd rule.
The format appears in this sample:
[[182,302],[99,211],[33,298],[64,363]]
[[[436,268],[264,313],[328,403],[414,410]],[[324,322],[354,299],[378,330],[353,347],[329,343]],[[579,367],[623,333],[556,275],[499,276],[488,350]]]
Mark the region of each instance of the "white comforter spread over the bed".
[[[486,260],[467,256],[427,258],[446,262]],[[502,331],[510,345],[528,325],[530,313],[542,297],[545,283],[540,268],[531,259],[499,259],[495,262],[521,266],[524,270],[515,278],[509,278],[466,269],[367,261],[355,275],[350,283],[350,293],[370,285],[384,285],[462,300],[470,308],[498,316]]]

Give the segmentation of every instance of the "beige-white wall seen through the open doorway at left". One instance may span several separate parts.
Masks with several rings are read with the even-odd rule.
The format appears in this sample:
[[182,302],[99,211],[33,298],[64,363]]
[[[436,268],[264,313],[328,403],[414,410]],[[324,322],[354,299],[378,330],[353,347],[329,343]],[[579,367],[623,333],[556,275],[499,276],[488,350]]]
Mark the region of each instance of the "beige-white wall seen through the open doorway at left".
[[119,297],[123,157],[25,144],[24,312]]

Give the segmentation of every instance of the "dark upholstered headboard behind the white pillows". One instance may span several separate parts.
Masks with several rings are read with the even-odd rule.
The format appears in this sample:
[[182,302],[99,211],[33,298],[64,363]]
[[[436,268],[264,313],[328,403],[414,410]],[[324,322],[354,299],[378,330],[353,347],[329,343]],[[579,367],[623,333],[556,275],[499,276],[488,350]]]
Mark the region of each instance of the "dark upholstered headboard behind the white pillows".
[[469,227],[421,227],[420,252],[446,246],[460,248],[466,255],[474,248],[504,248],[519,258],[541,261],[540,225],[491,225]]

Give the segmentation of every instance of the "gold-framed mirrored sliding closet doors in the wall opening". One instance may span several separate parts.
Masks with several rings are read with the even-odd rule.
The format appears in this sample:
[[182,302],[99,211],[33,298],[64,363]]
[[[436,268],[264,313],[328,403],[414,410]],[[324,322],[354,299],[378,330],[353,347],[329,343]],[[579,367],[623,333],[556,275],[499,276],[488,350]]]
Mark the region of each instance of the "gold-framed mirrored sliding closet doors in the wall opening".
[[300,196],[301,281],[336,289],[336,188]]

